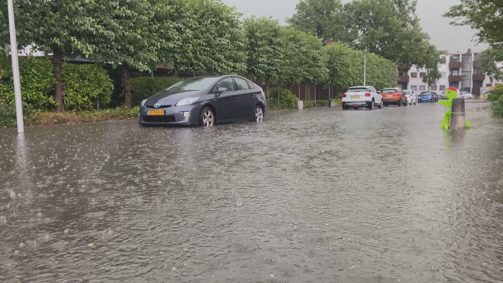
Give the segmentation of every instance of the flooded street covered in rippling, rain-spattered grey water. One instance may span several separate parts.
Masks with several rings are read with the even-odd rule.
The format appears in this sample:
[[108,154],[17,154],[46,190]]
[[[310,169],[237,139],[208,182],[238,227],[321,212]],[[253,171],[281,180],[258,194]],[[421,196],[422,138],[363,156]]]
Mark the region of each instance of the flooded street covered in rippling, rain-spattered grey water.
[[2,129],[0,282],[501,282],[487,106]]

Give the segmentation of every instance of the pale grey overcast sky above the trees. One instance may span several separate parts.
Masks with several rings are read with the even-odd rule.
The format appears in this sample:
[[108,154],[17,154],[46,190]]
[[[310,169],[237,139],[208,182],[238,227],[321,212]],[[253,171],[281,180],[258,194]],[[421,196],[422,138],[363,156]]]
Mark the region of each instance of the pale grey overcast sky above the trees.
[[[236,7],[243,17],[252,15],[272,16],[285,24],[285,18],[295,13],[295,5],[298,0],[222,0],[228,6]],[[350,0],[343,0],[350,2]],[[476,45],[472,42],[474,31],[469,27],[454,27],[449,25],[450,19],[443,18],[442,14],[449,7],[458,4],[459,0],[417,0],[417,16],[421,19],[421,26],[432,37],[432,43],[441,50],[450,52],[466,51],[471,48],[474,51],[482,51],[486,45]],[[454,42],[456,47],[452,47]]]

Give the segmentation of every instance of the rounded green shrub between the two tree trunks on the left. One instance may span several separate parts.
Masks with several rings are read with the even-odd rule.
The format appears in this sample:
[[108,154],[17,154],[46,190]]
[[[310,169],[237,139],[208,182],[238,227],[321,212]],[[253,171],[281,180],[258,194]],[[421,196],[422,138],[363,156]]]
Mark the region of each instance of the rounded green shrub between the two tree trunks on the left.
[[100,100],[107,105],[112,98],[113,81],[107,70],[92,64],[63,64],[64,105],[67,110],[92,109]]

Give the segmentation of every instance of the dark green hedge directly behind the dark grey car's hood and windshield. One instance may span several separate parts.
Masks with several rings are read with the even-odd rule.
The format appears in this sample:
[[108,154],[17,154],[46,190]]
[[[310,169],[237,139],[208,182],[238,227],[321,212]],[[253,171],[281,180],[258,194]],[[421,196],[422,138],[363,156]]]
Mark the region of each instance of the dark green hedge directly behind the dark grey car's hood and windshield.
[[177,77],[137,77],[129,80],[131,84],[131,104],[139,106],[146,99],[182,81]]

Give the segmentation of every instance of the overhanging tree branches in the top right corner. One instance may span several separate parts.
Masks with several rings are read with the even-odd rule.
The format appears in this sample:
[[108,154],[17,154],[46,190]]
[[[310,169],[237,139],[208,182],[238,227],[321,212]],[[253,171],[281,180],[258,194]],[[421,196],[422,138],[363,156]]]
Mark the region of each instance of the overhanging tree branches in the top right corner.
[[454,18],[451,25],[469,26],[477,30],[478,42],[489,43],[497,60],[503,59],[503,2],[495,0],[461,0],[444,17]]

